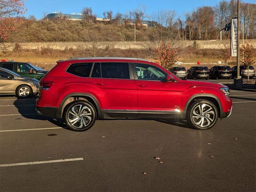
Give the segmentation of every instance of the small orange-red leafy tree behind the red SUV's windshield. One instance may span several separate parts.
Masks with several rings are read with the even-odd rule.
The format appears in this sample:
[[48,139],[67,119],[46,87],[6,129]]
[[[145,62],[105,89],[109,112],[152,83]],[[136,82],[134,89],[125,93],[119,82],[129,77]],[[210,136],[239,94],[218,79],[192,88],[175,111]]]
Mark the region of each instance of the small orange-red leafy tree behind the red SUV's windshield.
[[162,42],[160,43],[160,46],[154,46],[154,54],[156,63],[170,70],[177,61],[178,50],[176,48],[172,48],[172,46],[167,42]]

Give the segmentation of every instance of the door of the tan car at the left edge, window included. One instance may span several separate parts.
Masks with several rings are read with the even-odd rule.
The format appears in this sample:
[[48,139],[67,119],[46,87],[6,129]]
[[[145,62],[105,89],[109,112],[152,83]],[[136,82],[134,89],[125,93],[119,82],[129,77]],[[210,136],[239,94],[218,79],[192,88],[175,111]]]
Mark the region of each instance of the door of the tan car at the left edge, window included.
[[[8,79],[11,76],[12,79]],[[13,94],[15,79],[14,76],[6,71],[0,70],[0,94]]]

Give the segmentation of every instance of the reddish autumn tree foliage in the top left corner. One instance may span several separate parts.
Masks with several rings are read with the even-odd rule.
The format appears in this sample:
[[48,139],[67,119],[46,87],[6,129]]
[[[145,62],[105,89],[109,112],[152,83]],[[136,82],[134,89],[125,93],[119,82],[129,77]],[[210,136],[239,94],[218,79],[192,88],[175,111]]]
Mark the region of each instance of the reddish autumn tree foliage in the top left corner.
[[22,22],[18,16],[25,12],[24,0],[0,0],[0,42],[9,38],[10,33]]

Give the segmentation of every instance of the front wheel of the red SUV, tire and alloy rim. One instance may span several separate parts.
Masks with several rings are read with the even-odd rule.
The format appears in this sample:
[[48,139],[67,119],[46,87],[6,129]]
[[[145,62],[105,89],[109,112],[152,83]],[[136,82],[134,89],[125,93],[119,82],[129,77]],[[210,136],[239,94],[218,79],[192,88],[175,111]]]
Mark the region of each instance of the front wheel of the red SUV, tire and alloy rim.
[[[203,110],[203,112],[200,113],[200,110]],[[207,112],[207,114],[204,112]],[[186,119],[193,128],[207,130],[216,124],[218,120],[218,109],[214,103],[208,100],[198,99],[188,108]]]

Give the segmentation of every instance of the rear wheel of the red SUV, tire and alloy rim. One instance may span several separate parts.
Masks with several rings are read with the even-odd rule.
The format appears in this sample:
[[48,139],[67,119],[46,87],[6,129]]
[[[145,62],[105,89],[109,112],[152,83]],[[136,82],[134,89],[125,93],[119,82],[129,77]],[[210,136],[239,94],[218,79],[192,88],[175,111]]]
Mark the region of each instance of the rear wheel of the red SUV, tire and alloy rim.
[[86,131],[90,129],[94,125],[96,117],[97,113],[94,106],[84,100],[71,102],[64,110],[66,125],[73,131]]

